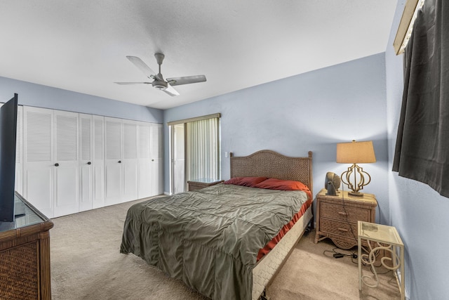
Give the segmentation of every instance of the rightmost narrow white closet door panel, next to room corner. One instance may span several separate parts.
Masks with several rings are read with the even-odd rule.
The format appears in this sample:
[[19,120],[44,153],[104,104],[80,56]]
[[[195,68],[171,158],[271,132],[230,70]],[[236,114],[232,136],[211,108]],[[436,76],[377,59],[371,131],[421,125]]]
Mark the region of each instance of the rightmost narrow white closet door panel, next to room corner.
[[163,127],[162,124],[150,124],[151,188],[152,196],[163,193]]

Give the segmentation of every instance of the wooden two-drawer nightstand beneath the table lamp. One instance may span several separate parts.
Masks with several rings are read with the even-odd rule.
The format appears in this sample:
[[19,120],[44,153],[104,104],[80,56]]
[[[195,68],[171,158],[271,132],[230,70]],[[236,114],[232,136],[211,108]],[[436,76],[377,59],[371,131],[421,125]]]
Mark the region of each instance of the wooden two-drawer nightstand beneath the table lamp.
[[375,223],[375,195],[353,197],[341,190],[336,196],[326,193],[323,188],[316,195],[315,244],[329,237],[337,247],[351,249],[357,245],[357,221]]

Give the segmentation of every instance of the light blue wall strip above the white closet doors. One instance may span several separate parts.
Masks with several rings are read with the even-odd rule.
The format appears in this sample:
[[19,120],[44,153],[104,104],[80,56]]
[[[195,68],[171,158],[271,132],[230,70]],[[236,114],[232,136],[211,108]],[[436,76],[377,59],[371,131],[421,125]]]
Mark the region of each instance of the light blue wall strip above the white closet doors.
[[163,121],[162,110],[155,108],[0,77],[0,102],[11,99],[14,93],[19,95],[19,105],[153,123]]

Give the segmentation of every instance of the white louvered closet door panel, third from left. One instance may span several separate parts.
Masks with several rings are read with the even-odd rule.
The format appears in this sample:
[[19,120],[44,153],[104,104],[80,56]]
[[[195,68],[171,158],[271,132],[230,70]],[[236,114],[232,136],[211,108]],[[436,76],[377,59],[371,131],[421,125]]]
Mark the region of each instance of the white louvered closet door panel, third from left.
[[54,216],[79,211],[79,114],[54,110],[55,209]]

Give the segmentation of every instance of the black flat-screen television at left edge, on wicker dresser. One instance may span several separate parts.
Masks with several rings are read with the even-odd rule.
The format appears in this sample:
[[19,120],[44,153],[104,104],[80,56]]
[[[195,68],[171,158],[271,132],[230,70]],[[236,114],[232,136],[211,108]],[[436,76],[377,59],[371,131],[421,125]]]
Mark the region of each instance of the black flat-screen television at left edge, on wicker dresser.
[[14,221],[18,95],[0,107],[0,221]]

